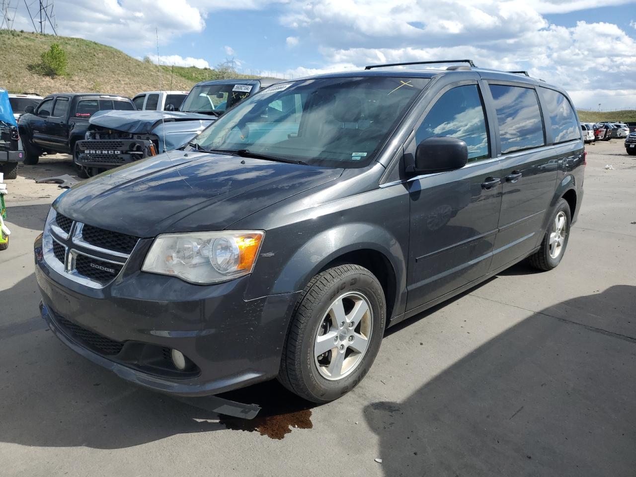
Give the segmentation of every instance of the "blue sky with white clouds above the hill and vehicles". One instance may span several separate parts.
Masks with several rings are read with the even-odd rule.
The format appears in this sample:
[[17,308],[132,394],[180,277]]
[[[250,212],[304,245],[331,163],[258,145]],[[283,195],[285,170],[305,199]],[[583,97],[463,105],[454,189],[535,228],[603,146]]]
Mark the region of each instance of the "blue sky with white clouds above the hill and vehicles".
[[[162,64],[289,79],[472,59],[562,86],[579,108],[636,109],[636,0],[55,0],[55,14],[61,35]],[[13,26],[32,31],[24,5]]]

